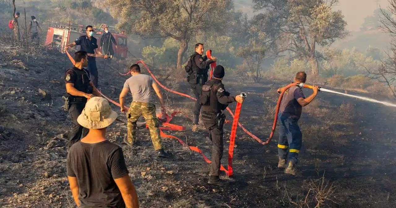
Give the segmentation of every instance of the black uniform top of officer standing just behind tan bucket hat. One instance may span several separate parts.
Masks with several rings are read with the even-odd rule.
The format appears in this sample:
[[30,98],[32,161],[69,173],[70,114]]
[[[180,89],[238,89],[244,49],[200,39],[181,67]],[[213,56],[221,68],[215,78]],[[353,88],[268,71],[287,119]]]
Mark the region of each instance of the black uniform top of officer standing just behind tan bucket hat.
[[[89,84],[91,80],[89,79],[85,69],[80,70],[77,69],[76,67],[73,67],[71,69],[73,70],[73,74],[76,77],[74,81],[74,88],[76,88],[78,91],[91,94],[93,92],[93,87],[91,86],[91,84]],[[83,103],[86,101],[87,101],[86,97],[70,95],[70,102]]]

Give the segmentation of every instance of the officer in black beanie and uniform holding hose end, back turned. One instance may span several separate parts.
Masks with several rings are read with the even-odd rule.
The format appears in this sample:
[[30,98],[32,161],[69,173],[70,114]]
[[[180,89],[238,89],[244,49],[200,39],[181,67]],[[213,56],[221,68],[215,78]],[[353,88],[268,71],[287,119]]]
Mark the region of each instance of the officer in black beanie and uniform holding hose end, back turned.
[[219,178],[220,160],[224,149],[223,125],[225,115],[223,110],[232,102],[242,103],[244,101],[244,97],[241,95],[230,96],[230,93],[225,91],[224,85],[221,83],[223,77],[224,67],[221,65],[216,66],[213,71],[213,79],[202,86],[202,93],[199,99],[202,105],[202,120],[213,143],[208,183],[215,185],[223,185]]

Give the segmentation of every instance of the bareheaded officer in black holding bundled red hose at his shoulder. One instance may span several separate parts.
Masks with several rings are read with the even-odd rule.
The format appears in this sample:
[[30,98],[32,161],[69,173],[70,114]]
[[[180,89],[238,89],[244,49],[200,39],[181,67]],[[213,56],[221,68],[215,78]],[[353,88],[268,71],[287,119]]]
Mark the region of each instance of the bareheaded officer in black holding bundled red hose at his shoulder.
[[187,65],[185,67],[185,70],[188,73],[187,81],[190,83],[192,91],[197,99],[194,106],[194,120],[192,123],[192,130],[194,132],[197,131],[199,114],[201,111],[201,105],[198,100],[202,91],[202,85],[208,81],[209,65],[217,61],[216,57],[205,60],[204,57],[202,57],[202,54],[204,54],[204,44],[195,44],[195,53],[188,58]]

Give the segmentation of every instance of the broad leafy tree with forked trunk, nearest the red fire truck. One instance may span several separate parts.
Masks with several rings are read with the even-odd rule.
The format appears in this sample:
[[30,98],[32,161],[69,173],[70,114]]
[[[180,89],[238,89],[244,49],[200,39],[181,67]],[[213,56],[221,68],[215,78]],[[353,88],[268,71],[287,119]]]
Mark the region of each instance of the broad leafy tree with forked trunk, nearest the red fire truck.
[[233,8],[232,0],[106,0],[105,4],[118,17],[118,28],[137,32],[143,38],[177,40],[178,69],[191,38],[204,31],[223,29]]

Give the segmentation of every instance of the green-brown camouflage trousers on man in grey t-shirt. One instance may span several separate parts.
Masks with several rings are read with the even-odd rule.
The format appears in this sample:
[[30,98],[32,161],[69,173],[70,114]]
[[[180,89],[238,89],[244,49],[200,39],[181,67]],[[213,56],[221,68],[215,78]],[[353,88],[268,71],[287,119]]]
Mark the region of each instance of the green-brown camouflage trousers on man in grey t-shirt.
[[162,141],[160,136],[160,129],[158,126],[160,122],[155,115],[155,105],[152,103],[143,103],[132,101],[131,107],[127,112],[128,119],[128,142],[133,144],[136,138],[136,122],[140,116],[146,120],[148,129],[150,130],[152,145],[155,150],[162,149]]

